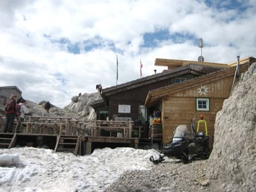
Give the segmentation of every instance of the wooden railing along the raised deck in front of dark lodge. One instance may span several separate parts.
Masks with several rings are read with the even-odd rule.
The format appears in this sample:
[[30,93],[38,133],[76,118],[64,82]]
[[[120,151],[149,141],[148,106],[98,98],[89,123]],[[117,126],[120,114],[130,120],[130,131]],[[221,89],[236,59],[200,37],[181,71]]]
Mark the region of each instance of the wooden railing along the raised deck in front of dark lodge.
[[[2,129],[5,119],[2,119]],[[15,119],[15,125],[19,122]],[[51,135],[89,135],[91,137],[133,137],[132,121],[90,121],[70,117],[26,116],[21,133]],[[138,135],[140,137],[140,135]]]

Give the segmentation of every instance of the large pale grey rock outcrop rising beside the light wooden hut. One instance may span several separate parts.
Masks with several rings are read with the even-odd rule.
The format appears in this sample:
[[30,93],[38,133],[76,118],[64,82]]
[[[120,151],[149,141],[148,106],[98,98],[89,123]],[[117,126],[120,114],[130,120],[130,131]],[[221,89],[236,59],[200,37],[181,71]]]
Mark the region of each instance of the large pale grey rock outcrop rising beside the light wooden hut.
[[215,122],[207,176],[219,191],[254,191],[256,176],[256,63],[223,103]]

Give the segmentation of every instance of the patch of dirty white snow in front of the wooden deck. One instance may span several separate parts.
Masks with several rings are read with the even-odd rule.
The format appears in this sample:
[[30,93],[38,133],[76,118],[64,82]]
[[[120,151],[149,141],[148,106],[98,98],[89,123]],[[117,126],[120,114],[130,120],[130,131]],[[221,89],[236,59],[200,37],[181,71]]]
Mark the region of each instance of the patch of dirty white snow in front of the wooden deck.
[[91,155],[51,149],[0,149],[0,191],[104,191],[125,171],[151,169],[154,149],[102,148]]

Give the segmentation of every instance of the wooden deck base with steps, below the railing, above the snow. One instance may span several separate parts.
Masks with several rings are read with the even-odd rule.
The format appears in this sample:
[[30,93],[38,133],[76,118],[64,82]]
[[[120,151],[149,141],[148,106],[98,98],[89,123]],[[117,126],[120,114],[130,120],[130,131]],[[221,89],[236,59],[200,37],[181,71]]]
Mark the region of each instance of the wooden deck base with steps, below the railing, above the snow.
[[89,155],[95,148],[129,146],[138,148],[138,138],[84,137],[78,135],[48,135],[31,133],[0,133],[0,148],[33,146],[55,152]]

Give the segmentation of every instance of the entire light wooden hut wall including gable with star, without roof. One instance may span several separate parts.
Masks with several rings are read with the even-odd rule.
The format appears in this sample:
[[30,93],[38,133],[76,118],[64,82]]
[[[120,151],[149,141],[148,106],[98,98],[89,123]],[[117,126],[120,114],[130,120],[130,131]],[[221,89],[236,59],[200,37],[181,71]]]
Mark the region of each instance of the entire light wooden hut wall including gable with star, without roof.
[[[177,91],[165,97],[162,100],[163,112],[163,143],[167,144],[176,127],[179,124],[185,124],[190,131],[190,120],[195,119],[195,126],[200,120],[200,115],[205,116],[208,124],[208,134],[211,141],[214,135],[214,122],[218,111],[221,110],[224,99],[229,97],[232,77],[219,79],[205,84],[194,84],[190,88]],[[201,88],[206,88],[202,93]],[[208,98],[210,101],[210,111],[196,111],[196,98]],[[202,124],[200,124],[202,125]],[[199,130],[204,131],[204,126],[200,126]]]

